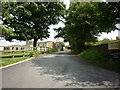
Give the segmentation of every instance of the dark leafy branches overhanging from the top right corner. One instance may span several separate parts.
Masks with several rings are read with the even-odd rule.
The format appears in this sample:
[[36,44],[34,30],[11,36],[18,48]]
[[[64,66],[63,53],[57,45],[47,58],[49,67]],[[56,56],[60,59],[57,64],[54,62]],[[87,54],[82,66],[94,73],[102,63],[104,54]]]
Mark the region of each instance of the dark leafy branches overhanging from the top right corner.
[[[98,32],[111,32],[120,23],[120,2],[92,3],[95,11],[94,25]],[[120,29],[118,29],[120,30]]]

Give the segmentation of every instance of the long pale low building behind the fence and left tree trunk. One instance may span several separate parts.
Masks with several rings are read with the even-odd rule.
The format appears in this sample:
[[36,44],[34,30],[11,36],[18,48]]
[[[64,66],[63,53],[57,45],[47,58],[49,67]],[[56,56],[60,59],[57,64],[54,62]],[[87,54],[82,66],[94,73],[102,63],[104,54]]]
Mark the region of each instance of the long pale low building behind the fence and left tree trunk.
[[[45,41],[45,42],[37,42],[37,50],[38,51],[47,51],[47,49],[52,49],[52,48],[56,48],[59,50],[63,49],[63,46],[59,43],[59,42],[52,42],[52,41]],[[10,50],[10,51],[22,51],[22,50],[26,50],[26,51],[31,51],[33,50],[33,41],[26,41],[25,45],[9,45],[9,46],[0,46],[0,51],[2,50]]]

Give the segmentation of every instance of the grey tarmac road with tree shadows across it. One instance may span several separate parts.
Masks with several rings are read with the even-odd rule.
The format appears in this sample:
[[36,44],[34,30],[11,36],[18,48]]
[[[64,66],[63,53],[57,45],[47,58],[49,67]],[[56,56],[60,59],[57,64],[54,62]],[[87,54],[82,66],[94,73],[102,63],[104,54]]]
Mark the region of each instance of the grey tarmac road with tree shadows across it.
[[118,73],[69,51],[48,54],[2,70],[3,88],[115,88]]

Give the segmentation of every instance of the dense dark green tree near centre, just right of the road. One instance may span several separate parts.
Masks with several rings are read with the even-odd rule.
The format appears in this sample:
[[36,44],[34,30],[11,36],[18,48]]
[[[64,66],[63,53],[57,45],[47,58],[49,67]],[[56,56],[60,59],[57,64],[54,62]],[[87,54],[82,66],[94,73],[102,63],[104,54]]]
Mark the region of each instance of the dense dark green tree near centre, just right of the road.
[[[95,41],[96,33],[91,24],[94,17],[94,11],[90,3],[72,3],[66,15],[65,27],[59,28],[58,36],[63,36],[68,40],[71,49],[79,52],[85,49],[85,42]],[[61,30],[60,30],[61,29]]]

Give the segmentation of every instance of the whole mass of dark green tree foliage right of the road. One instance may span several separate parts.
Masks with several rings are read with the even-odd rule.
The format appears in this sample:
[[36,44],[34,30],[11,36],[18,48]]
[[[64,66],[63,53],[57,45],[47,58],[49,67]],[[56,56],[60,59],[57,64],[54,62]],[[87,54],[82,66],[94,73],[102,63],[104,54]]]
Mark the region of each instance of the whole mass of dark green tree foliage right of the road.
[[120,2],[75,2],[66,11],[65,27],[56,37],[69,41],[72,50],[85,49],[86,42],[95,42],[99,33],[115,30],[120,22]]

